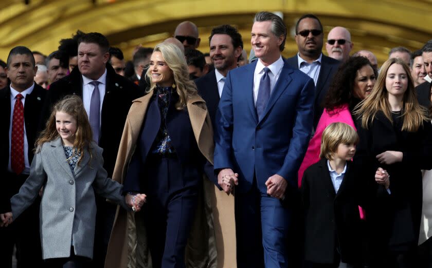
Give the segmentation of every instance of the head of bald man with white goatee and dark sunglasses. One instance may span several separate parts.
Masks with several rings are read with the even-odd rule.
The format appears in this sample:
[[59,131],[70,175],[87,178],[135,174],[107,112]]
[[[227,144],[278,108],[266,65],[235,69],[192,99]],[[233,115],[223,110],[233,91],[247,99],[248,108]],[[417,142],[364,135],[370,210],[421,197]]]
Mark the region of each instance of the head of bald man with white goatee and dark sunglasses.
[[344,27],[334,27],[327,36],[326,50],[330,58],[345,62],[350,57],[354,44],[351,33]]

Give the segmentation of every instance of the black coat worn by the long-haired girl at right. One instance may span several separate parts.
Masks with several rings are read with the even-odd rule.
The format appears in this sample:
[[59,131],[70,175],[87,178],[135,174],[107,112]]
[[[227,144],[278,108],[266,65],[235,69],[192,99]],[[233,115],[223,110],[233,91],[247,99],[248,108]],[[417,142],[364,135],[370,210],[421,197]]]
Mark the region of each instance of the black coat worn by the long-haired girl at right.
[[[358,165],[359,174],[368,182],[371,205],[367,208],[366,218],[372,236],[371,252],[404,251],[416,247],[422,210],[421,169],[432,168],[432,125],[430,121],[424,121],[416,132],[402,131],[395,128],[381,111],[368,129],[363,128],[360,121],[357,125],[360,142],[353,163]],[[402,162],[380,164],[376,155],[387,150],[403,152]],[[391,195],[375,183],[374,174],[378,167],[386,169],[390,175]]]

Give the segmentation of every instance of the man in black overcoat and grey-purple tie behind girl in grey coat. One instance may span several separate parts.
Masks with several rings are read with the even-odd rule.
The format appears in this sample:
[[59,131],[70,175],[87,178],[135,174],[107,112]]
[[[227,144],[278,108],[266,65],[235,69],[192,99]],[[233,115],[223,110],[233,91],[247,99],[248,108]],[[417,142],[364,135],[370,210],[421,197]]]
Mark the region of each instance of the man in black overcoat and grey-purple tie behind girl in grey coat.
[[[137,85],[116,74],[106,64],[110,45],[100,33],[87,33],[78,42],[78,68],[65,78],[51,84],[45,103],[45,114],[64,95],[82,97],[92,125],[93,138],[103,148],[103,167],[111,177],[117,151],[132,101],[142,95]],[[46,116],[45,116],[46,118]],[[114,221],[115,207],[97,200],[94,267],[103,267],[107,243]]]

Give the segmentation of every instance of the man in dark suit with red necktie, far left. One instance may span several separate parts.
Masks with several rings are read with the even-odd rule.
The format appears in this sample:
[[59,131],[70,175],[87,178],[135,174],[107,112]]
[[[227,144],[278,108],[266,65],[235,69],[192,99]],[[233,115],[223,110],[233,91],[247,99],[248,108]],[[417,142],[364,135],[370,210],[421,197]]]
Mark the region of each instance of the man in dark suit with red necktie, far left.
[[[0,213],[11,211],[10,198],[29,175],[46,95],[33,82],[37,67],[30,49],[13,48],[5,70],[11,84],[0,90]],[[2,267],[12,267],[14,244],[18,267],[42,266],[39,203],[38,197],[22,217],[0,228]]]

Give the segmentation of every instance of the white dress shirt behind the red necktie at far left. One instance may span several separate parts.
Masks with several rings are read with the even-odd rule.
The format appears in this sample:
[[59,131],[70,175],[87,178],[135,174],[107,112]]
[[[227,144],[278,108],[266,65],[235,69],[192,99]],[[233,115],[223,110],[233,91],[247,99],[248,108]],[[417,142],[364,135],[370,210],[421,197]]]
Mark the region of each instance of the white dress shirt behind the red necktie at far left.
[[[16,95],[21,93],[23,95],[23,98],[21,99],[21,102],[23,103],[23,107],[25,107],[25,101],[27,94],[30,94],[34,89],[34,83],[24,90],[23,92],[18,92],[15,89],[12,88],[12,85],[10,85],[10,124],[9,124],[9,163],[8,163],[8,170],[9,172],[13,173],[12,165],[10,163],[10,152],[12,148],[12,119],[13,119],[13,110],[15,107],[15,101],[16,101]],[[31,111],[30,111],[31,112]],[[24,170],[22,174],[28,175],[30,174],[30,163],[28,161],[28,141],[27,141],[27,131],[26,131],[26,119],[24,117]]]

